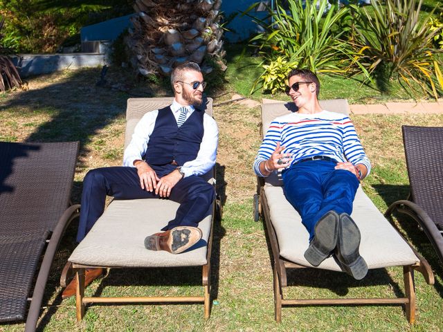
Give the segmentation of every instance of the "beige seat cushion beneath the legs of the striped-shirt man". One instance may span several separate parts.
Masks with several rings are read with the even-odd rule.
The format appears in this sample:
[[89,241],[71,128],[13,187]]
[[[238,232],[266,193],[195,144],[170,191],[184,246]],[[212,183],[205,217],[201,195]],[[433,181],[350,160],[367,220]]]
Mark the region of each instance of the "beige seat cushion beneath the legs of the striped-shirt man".
[[[303,257],[309,245],[309,234],[298,212],[284,197],[282,187],[266,185],[264,194],[278,237],[280,256],[302,266],[311,266]],[[359,226],[360,254],[369,268],[404,266],[419,261],[408,243],[384,218],[361,187],[354,200],[352,219]],[[341,271],[333,257],[325,259],[318,268]]]

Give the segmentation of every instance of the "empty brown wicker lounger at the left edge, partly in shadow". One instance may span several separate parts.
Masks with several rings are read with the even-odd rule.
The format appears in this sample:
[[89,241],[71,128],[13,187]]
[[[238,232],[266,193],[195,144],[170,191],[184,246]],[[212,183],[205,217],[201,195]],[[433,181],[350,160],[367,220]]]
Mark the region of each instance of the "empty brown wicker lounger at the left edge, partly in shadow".
[[0,322],[24,320],[33,289],[25,331],[36,329],[55,251],[80,208],[69,207],[78,149],[0,142]]

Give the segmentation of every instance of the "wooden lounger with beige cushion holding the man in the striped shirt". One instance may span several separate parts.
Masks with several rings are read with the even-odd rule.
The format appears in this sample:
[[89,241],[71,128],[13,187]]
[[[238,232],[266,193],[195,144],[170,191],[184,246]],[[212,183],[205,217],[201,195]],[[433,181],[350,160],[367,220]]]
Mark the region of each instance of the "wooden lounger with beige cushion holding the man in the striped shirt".
[[[320,100],[323,109],[347,114],[347,100]],[[269,124],[277,116],[282,116],[294,110],[293,103],[275,102],[262,104],[263,136]],[[287,281],[287,271],[291,268],[302,273],[311,266],[303,256],[309,245],[309,234],[301,223],[300,215],[285,199],[282,181],[275,172],[268,178],[257,178],[258,193],[255,196],[255,219],[263,216],[269,235],[273,255],[274,303],[275,320],[281,321],[282,306],[312,306],[312,305],[349,305],[349,304],[401,304],[406,307],[408,322],[415,321],[415,287],[414,270],[422,273],[428,284],[433,284],[434,275],[428,262],[421,257],[399,232],[383,217],[377,207],[365,195],[361,187],[357,190],[354,200],[352,218],[361,231],[360,254],[368,267],[386,268],[402,266],[404,272],[404,297],[388,298],[349,298],[338,297],[331,299],[287,299],[282,288],[290,286]],[[341,271],[340,266],[329,257],[318,268]],[[292,283],[294,284],[294,283]],[[294,286],[296,286],[295,283]]]

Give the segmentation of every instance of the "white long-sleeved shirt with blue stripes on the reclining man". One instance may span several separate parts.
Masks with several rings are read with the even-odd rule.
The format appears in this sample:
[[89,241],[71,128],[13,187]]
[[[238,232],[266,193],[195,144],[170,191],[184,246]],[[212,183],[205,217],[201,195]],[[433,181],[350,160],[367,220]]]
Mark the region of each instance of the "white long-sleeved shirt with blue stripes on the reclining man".
[[347,160],[353,165],[363,164],[368,174],[370,172],[370,161],[357,137],[354,124],[349,117],[340,113],[291,113],[275,118],[254,160],[253,168],[258,176],[264,176],[259,165],[271,158],[277,142],[285,147],[282,154],[292,155],[291,165],[311,156],[328,156],[340,162]]

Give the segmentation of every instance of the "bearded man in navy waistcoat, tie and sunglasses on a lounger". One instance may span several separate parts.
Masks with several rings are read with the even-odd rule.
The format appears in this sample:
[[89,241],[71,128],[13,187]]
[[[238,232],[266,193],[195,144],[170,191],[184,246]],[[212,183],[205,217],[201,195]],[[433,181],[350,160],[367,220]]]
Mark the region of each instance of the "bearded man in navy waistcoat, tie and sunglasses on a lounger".
[[[213,185],[201,175],[215,165],[218,129],[215,120],[198,108],[206,86],[198,64],[177,66],[171,85],[174,101],[141,118],[125,149],[123,167],[92,169],[85,176],[77,241],[82,241],[102,215],[107,195],[180,203],[175,218],[163,232],[146,237],[147,250],[179,254],[201,239],[198,223],[215,199]],[[100,268],[87,270],[85,284],[101,274]],[[75,287],[73,280],[62,297],[74,295]]]

